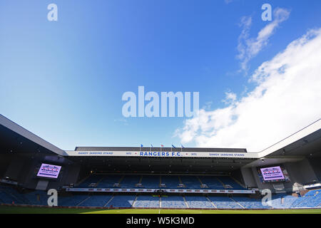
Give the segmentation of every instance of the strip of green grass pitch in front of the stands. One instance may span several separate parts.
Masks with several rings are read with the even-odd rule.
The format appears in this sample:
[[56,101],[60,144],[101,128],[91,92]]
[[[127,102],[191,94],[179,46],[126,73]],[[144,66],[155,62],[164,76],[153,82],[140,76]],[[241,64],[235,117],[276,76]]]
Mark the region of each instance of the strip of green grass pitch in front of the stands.
[[76,209],[0,206],[0,214],[321,214],[321,209]]

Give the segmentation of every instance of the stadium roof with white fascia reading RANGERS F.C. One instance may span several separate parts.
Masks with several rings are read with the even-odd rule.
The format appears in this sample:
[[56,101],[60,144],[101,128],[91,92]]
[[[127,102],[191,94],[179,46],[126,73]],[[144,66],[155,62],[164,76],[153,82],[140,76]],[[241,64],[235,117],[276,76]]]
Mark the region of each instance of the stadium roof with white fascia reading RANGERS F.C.
[[[228,170],[243,166],[262,165],[260,162],[291,162],[304,156],[318,156],[321,148],[321,119],[315,121],[260,152],[247,152],[242,148],[200,148],[200,147],[76,147],[75,150],[61,150],[39,138],[20,125],[0,115],[1,153],[46,152],[78,162],[88,162],[92,167],[136,167],[145,165],[160,169],[163,165],[178,165],[186,170],[194,167],[202,170],[215,167]],[[171,166],[173,167],[173,166]],[[189,168],[188,168],[189,167]]]

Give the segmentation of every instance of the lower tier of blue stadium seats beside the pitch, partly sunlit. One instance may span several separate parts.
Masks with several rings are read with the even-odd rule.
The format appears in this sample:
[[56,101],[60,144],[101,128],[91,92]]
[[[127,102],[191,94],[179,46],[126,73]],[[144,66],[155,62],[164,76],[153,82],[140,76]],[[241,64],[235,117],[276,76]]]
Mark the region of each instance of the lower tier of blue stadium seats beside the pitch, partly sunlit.
[[[21,194],[11,187],[0,185],[0,203],[47,205],[45,191]],[[161,207],[161,208],[218,208],[218,209],[265,209],[321,207],[321,191],[312,190],[304,197],[273,195],[271,207],[263,206],[261,199],[226,196],[162,196],[151,195],[88,195],[59,196],[58,206],[65,207]]]

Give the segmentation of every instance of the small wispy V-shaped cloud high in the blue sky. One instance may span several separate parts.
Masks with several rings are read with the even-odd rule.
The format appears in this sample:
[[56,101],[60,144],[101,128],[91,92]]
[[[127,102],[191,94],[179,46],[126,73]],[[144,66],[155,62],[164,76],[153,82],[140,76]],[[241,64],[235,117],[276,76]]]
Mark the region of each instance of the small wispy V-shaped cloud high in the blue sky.
[[276,28],[282,21],[289,18],[290,11],[286,9],[277,8],[273,11],[273,19],[270,24],[262,28],[256,38],[249,38],[250,26],[252,18],[243,16],[240,21],[240,26],[243,28],[238,37],[238,56],[240,59],[241,69],[248,70],[248,62],[251,58],[258,55],[258,53],[267,46],[270,36],[275,32]]

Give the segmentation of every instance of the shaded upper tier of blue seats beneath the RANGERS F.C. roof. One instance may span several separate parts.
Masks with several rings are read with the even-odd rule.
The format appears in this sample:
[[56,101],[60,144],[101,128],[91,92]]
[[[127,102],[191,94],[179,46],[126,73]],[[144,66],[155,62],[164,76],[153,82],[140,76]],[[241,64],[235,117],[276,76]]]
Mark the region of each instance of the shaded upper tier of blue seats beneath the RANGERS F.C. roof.
[[190,175],[91,175],[77,187],[96,188],[182,188],[198,190],[204,187],[215,190],[245,190],[232,177]]

